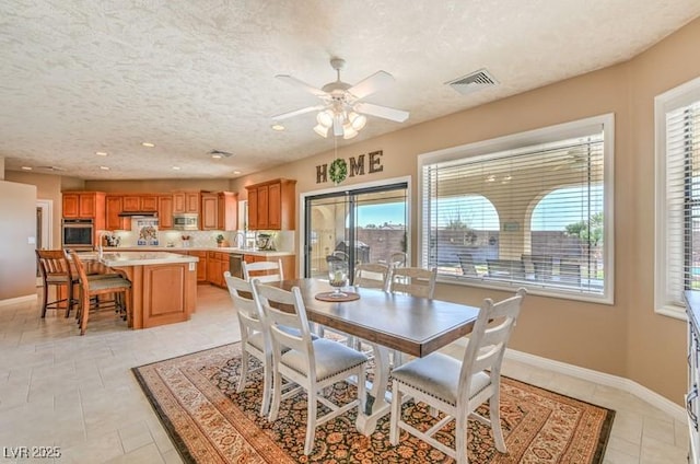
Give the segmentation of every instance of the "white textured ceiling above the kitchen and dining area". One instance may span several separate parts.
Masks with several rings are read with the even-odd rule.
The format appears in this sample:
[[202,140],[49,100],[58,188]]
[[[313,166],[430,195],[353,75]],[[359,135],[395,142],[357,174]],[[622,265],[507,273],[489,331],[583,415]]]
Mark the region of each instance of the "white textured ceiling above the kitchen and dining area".
[[[332,56],[351,84],[392,73],[364,101],[410,118],[370,116],[349,144],[625,61],[698,15],[698,0],[0,0],[0,156],[85,179],[235,177],[332,147],[313,113],[270,129],[318,103],[276,74],[320,88]],[[444,84],[481,68],[500,84]]]

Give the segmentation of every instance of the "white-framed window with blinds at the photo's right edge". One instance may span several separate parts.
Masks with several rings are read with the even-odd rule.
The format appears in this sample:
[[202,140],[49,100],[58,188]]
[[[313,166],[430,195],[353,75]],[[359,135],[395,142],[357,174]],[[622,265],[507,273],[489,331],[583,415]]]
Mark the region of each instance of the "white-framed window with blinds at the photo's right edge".
[[655,310],[685,317],[700,289],[700,79],[655,98]]

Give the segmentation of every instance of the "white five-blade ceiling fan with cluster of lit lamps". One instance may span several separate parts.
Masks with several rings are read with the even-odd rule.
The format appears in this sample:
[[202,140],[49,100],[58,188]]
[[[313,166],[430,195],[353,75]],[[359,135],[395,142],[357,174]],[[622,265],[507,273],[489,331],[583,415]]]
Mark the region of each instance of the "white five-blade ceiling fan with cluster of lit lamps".
[[318,125],[314,127],[314,131],[323,137],[327,137],[328,130],[332,127],[334,136],[343,136],[346,139],[357,136],[358,131],[364,127],[366,124],[366,117],[364,115],[377,116],[397,123],[404,123],[408,119],[408,112],[362,101],[365,96],[394,82],[392,74],[386,71],[377,71],[357,84],[350,85],[340,80],[340,70],[345,68],[345,65],[346,61],[343,59],[331,58],[330,66],[336,70],[337,80],[327,83],[320,89],[291,76],[278,74],[278,79],[305,90],[312,95],[319,97],[323,103],[282,113],[273,116],[272,119],[279,121],[305,113],[318,112],[316,116]]

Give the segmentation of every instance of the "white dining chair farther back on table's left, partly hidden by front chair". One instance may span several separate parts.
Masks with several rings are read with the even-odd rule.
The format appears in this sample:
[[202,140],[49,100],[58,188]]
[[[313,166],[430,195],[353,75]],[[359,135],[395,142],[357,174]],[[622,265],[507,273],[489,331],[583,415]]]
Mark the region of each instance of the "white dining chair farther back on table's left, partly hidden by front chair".
[[[262,324],[259,305],[254,300],[253,285],[233,277],[228,270],[223,277],[233,301],[233,306],[238,316],[241,328],[241,376],[238,378],[237,393],[243,392],[248,376],[248,358],[253,355],[262,363],[262,402],[260,416],[267,416],[270,410],[270,396],[272,392],[272,341],[269,332]],[[250,371],[253,372],[253,371]]]

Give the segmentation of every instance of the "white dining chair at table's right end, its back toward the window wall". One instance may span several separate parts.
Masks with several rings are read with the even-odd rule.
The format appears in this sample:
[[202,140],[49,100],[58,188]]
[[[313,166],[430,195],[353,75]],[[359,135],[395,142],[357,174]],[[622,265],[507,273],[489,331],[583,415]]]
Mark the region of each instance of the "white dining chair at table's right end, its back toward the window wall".
[[[525,289],[518,289],[514,297],[498,303],[491,299],[483,301],[462,360],[433,352],[392,372],[389,441],[393,445],[398,444],[399,429],[402,429],[455,459],[457,464],[467,464],[467,419],[471,417],[490,426],[495,449],[506,452],[499,413],[501,363],[524,297]],[[429,430],[420,431],[401,418],[404,395],[445,416]],[[476,413],[487,399],[488,418]],[[456,421],[455,449],[434,438],[452,420]]]

